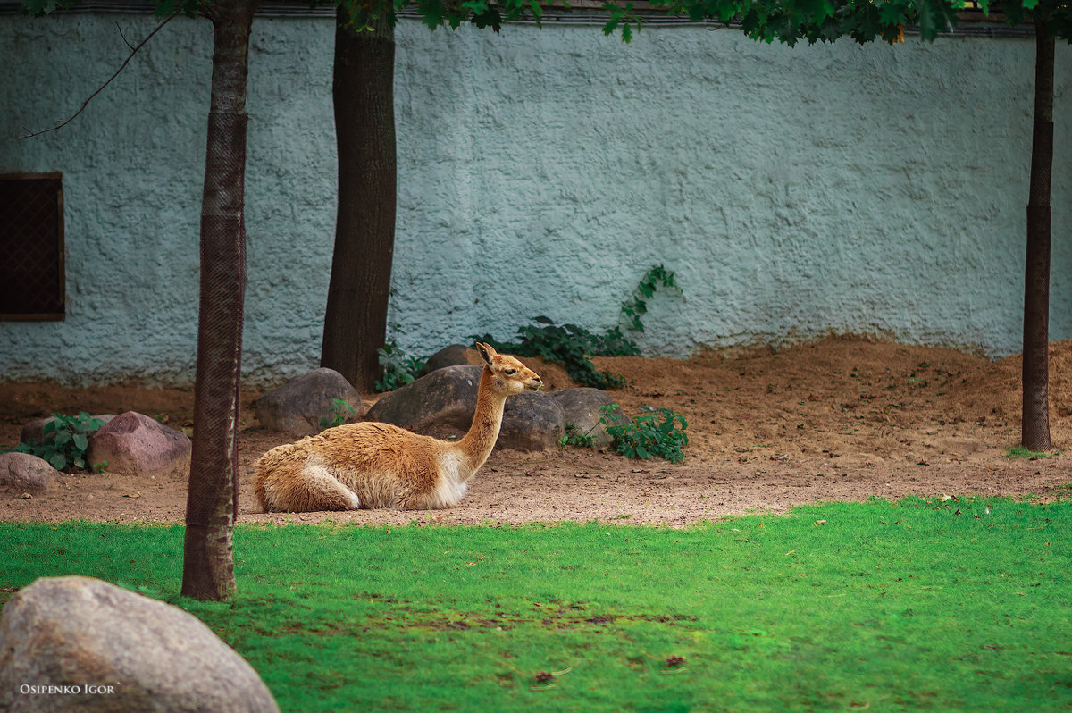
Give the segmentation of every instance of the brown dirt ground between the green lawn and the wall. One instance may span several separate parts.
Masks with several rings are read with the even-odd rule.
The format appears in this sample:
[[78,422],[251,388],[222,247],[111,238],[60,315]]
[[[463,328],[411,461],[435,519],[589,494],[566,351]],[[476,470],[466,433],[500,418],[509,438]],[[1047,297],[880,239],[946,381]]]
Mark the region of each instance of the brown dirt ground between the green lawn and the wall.
[[[565,372],[525,359],[552,388]],[[747,511],[784,511],[821,501],[878,495],[1033,495],[1068,492],[1072,467],[1072,341],[1051,345],[1048,458],[1014,459],[1019,439],[1019,358],[999,361],[951,350],[858,338],[743,357],[717,353],[688,360],[600,358],[629,386],[613,392],[630,414],[640,404],[678,410],[690,442],[681,464],[626,460],[569,448],[545,454],[495,451],[459,507],[433,511],[266,515],[253,497],[253,463],[289,441],[262,429],[243,393],[239,522],[367,524],[520,523],[598,519],[684,525]],[[372,397],[374,398],[374,397]],[[192,389],[48,384],[0,385],[0,448],[21,426],[49,413],[138,411],[173,428],[193,424]],[[181,478],[64,475],[26,496],[0,487],[0,520],[175,521],[185,511]]]

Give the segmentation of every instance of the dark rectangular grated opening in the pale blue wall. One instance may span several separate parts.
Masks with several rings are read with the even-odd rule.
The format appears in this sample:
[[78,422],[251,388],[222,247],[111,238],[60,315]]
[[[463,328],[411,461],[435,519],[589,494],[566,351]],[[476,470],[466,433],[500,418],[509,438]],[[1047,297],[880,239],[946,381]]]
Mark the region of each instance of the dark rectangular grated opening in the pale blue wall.
[[62,174],[0,175],[0,320],[62,320]]

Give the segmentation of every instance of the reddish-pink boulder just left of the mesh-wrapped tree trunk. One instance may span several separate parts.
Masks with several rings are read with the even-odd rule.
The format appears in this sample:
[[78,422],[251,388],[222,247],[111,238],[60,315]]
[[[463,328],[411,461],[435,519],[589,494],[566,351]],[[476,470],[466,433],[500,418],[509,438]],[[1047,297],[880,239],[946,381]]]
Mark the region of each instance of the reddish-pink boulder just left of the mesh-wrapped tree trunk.
[[191,450],[184,433],[128,411],[89,436],[86,461],[107,462],[106,470],[120,475],[188,476]]

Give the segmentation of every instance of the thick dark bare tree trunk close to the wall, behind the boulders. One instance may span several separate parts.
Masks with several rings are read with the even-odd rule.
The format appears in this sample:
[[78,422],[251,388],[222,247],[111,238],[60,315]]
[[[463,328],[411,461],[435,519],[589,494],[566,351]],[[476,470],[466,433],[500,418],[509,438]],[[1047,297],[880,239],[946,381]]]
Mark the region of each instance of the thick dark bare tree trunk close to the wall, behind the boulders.
[[359,390],[381,374],[394,252],[394,30],[355,32],[337,14],[334,49],[339,213],[321,366]]

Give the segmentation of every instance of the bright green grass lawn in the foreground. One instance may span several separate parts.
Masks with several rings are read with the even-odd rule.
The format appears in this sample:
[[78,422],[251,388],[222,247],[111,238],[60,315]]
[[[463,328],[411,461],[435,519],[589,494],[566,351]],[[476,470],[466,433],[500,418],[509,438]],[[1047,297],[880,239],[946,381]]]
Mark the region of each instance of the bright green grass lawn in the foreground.
[[[987,511],[988,510],[988,511]],[[0,600],[81,574],[205,621],[284,711],[1072,708],[1072,503],[830,504],[688,530],[0,524]],[[547,673],[548,678],[539,675]]]

